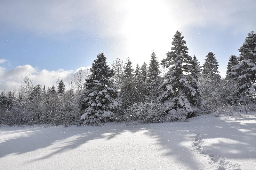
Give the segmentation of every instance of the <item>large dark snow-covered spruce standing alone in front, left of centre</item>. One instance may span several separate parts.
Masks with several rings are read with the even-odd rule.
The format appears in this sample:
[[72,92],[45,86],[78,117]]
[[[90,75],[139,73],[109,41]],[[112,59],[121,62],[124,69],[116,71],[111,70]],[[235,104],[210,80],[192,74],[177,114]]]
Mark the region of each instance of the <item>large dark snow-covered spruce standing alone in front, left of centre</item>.
[[120,107],[117,100],[118,92],[109,80],[114,76],[114,71],[108,67],[103,53],[97,55],[91,67],[92,75],[84,84],[84,114],[81,120],[91,124],[108,122],[114,116],[114,109]]

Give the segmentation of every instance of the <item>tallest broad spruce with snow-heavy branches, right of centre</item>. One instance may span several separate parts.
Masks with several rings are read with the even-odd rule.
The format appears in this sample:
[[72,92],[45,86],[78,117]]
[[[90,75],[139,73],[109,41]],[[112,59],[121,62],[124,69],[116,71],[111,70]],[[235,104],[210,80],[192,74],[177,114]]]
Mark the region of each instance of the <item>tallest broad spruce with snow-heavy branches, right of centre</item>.
[[164,75],[163,84],[158,88],[164,90],[159,100],[164,103],[166,111],[176,119],[192,116],[200,107],[198,104],[202,103],[201,97],[197,98],[200,96],[199,89],[191,84],[196,79],[191,78],[192,57],[188,55],[188,47],[184,45],[186,41],[183,38],[178,31],[172,38],[172,51],[168,52],[167,58],[161,62],[169,71]]

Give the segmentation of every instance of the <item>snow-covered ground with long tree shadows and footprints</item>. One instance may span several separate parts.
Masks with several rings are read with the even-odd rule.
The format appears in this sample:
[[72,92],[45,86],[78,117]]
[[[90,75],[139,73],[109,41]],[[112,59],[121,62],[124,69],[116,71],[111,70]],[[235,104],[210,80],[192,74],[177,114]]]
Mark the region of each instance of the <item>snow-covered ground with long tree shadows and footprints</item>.
[[1,127],[0,169],[256,169],[256,114]]

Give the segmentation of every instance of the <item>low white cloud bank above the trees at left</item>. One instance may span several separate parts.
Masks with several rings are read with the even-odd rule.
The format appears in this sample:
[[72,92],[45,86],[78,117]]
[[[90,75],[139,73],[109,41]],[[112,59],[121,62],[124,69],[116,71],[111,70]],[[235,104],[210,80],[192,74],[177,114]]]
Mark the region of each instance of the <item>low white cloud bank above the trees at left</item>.
[[31,65],[18,66],[11,70],[6,70],[4,67],[0,67],[0,91],[19,89],[19,86],[23,83],[22,76],[28,75],[33,84],[41,84],[46,87],[52,85],[56,86],[56,79],[63,79],[66,87],[68,88],[68,82],[70,78],[76,76],[78,70],[87,70],[89,67],[81,67],[77,70],[38,70]]

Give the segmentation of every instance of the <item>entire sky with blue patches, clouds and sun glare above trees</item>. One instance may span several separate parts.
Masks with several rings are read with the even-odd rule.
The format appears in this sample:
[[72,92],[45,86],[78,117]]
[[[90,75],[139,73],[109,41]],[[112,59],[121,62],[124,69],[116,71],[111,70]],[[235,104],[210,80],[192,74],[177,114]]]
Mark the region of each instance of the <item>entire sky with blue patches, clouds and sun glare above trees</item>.
[[104,52],[133,66],[159,60],[178,30],[201,64],[212,51],[222,77],[231,54],[256,31],[255,0],[0,1],[0,90],[19,88],[22,76],[56,85],[92,65]]

